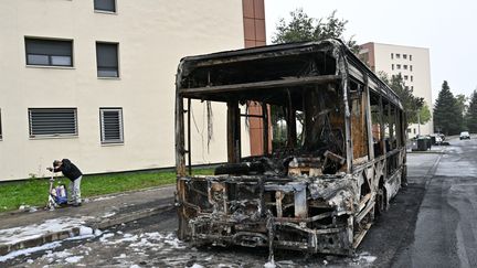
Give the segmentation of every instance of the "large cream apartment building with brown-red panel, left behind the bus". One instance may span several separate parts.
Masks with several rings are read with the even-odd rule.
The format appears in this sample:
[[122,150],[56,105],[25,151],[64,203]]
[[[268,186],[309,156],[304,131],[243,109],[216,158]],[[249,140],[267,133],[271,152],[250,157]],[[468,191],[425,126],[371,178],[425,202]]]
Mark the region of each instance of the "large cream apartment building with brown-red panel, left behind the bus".
[[[0,180],[62,158],[84,173],[172,167],[180,58],[264,45],[264,19],[263,0],[0,1]],[[194,164],[226,161],[226,107],[208,144],[205,105]]]

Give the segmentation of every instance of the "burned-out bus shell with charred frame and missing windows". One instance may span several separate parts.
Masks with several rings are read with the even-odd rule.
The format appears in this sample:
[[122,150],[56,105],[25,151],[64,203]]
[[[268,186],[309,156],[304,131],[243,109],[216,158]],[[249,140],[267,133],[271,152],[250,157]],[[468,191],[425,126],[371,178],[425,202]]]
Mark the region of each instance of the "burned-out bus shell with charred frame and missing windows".
[[[180,239],[349,255],[405,184],[403,106],[339,40],[184,57],[176,85]],[[213,175],[191,172],[191,100],[226,105]],[[252,119],[262,153],[242,156]]]

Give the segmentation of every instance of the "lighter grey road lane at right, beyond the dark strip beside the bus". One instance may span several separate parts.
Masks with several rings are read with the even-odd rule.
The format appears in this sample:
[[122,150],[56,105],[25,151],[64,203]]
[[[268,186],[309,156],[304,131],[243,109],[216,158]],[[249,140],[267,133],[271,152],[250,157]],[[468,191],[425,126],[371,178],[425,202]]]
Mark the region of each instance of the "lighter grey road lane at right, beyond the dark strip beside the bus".
[[453,140],[427,181],[414,240],[395,267],[477,267],[477,140]]

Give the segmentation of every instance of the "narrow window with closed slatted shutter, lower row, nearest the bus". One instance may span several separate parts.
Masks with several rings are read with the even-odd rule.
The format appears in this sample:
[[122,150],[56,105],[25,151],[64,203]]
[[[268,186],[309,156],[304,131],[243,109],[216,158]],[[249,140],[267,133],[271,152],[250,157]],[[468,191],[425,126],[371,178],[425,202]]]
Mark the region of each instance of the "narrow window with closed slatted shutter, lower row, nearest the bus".
[[100,108],[99,118],[102,143],[124,143],[123,108]]

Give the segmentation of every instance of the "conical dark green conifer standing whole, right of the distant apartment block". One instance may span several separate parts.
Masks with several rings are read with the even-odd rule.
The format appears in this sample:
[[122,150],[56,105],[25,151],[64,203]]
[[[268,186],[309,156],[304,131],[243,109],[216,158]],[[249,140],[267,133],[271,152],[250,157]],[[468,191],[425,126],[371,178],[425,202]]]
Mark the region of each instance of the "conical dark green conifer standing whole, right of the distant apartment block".
[[434,106],[434,129],[445,135],[456,135],[460,131],[463,115],[447,81],[444,81]]

